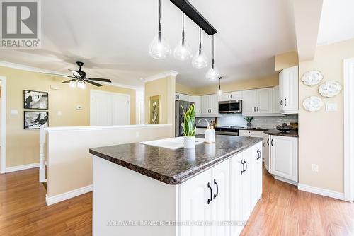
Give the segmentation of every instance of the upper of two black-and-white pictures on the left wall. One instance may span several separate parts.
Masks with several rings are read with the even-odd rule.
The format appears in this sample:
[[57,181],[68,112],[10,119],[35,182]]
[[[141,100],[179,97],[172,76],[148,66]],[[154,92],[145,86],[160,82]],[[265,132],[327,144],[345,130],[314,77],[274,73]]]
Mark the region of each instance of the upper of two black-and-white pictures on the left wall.
[[38,109],[47,110],[48,109],[48,93],[33,91],[33,90],[23,90],[23,100],[25,109]]

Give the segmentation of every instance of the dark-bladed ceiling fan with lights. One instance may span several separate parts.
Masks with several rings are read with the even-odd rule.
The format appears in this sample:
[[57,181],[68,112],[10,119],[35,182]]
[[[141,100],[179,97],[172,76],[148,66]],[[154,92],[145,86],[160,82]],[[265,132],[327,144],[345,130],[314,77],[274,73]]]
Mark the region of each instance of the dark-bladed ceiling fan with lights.
[[[81,66],[84,66],[84,62],[76,61],[76,64],[79,66],[78,70],[73,71],[73,70],[69,69],[69,71],[72,71],[72,76],[61,75],[58,73],[45,73],[45,74],[72,78],[72,79],[69,79],[68,81],[63,82],[63,83],[69,83],[69,86],[72,88],[78,87],[81,89],[86,89],[86,82],[91,83],[92,85],[95,85],[97,87],[101,87],[102,85],[100,83],[96,83],[94,81],[102,81],[102,82],[112,83],[112,81],[110,81],[110,79],[108,79],[108,78],[91,78],[91,77],[88,78],[86,75],[86,72],[81,70]],[[40,72],[40,73],[44,73],[44,72]]]

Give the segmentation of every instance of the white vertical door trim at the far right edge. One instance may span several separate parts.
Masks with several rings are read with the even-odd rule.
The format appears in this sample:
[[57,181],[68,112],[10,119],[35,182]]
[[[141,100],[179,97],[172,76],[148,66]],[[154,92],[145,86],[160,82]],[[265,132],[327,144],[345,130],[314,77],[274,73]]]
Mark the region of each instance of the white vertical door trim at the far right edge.
[[343,60],[344,199],[354,201],[354,58]]

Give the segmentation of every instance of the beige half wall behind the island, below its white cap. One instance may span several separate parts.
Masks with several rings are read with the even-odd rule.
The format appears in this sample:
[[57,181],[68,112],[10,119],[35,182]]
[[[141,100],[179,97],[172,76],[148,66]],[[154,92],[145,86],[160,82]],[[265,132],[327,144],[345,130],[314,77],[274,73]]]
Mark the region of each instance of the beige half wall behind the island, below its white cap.
[[89,148],[170,138],[169,131],[173,126],[73,128],[52,128],[47,131],[47,195],[49,197],[92,184],[92,157]]

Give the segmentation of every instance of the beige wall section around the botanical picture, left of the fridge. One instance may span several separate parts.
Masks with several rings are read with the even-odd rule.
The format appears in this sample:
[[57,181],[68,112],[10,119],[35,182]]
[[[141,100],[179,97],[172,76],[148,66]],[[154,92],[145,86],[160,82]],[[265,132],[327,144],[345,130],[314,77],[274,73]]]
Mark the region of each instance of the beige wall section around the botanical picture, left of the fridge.
[[150,97],[161,95],[161,124],[175,122],[176,77],[167,76],[145,83],[145,122],[150,119]]

